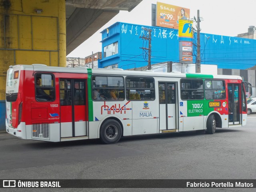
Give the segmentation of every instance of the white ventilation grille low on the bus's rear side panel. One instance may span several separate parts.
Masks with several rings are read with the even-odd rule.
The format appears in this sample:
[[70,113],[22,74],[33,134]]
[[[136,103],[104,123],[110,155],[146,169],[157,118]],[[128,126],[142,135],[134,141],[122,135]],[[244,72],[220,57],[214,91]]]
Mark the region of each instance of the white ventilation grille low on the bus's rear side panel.
[[35,123],[32,124],[32,138],[49,140],[49,124]]

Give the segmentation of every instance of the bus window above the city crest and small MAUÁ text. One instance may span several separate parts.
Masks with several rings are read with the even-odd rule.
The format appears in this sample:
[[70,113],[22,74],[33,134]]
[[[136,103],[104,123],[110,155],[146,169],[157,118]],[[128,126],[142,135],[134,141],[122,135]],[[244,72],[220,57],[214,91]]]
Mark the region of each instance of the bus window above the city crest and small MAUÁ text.
[[147,77],[126,77],[127,100],[154,100],[154,79]]

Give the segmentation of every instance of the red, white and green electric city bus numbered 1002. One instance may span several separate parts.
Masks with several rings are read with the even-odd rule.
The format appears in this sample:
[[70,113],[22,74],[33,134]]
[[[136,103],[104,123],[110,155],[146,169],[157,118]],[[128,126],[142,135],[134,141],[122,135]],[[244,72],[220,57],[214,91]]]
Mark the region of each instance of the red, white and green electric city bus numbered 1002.
[[22,139],[72,141],[246,125],[235,75],[14,65],[7,72],[6,131]]

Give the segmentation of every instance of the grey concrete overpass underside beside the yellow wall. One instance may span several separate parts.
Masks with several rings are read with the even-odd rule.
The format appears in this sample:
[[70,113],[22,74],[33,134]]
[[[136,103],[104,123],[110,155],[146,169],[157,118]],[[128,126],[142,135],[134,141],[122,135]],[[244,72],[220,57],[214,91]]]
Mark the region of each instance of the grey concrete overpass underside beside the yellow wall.
[[120,10],[142,0],[66,0],[66,55],[87,40]]

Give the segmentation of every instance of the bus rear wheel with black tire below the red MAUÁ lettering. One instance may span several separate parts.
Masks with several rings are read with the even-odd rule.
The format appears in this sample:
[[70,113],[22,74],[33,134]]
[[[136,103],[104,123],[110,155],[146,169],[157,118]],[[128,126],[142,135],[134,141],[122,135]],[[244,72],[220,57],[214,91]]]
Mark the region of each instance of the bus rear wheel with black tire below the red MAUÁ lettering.
[[100,127],[100,140],[105,144],[117,143],[121,136],[121,125],[114,119],[108,119]]

